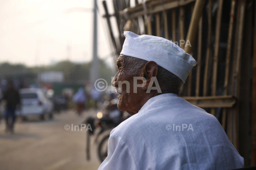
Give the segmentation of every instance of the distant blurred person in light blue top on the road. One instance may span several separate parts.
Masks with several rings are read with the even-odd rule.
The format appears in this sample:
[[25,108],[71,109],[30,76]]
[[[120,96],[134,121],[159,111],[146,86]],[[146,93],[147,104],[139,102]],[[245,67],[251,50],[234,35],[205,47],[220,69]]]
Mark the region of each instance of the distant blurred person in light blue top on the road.
[[73,101],[76,103],[76,110],[78,115],[82,114],[84,109],[84,103],[86,101],[86,96],[82,87],[78,89],[78,92],[74,94]]

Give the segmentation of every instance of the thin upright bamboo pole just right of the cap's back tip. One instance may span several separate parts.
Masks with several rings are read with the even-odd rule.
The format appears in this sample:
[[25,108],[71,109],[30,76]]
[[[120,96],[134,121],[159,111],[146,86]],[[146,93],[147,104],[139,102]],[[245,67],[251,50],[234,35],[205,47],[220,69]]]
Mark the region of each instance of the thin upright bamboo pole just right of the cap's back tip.
[[197,55],[196,92],[195,92],[196,96],[199,96],[199,90],[200,90],[201,48],[202,48],[202,17],[199,20],[199,29],[198,29],[198,50],[197,50],[198,55]]

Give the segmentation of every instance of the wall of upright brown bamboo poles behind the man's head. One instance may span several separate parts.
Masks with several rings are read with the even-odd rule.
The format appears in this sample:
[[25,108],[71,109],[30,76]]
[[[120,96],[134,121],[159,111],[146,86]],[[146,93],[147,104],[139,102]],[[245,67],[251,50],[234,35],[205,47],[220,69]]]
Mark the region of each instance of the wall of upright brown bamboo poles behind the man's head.
[[[185,14],[185,8],[184,5],[187,5],[189,3],[192,3],[195,1],[194,9],[192,10],[192,17],[191,17],[191,22],[189,25],[187,37],[185,37],[185,20],[184,20],[184,14]],[[219,7],[217,9],[217,19],[216,19],[216,27],[215,27],[215,37],[214,37],[214,48],[213,48],[213,53],[211,52],[211,34],[212,30],[212,0],[209,0],[208,3],[208,40],[207,40],[207,49],[206,49],[206,58],[205,58],[205,68],[204,70],[201,70],[201,58],[202,58],[202,10],[204,7],[205,0],[162,0],[162,4],[160,1],[157,0],[146,0],[146,8],[147,8],[147,19],[146,19],[146,29],[147,29],[147,34],[152,35],[152,23],[150,20],[150,17],[152,17],[152,14],[155,15],[155,28],[156,31],[155,34],[156,36],[161,36],[163,33],[161,32],[161,29],[164,29],[165,38],[166,39],[171,39],[173,42],[178,41],[176,37],[176,31],[179,30],[180,35],[178,37],[180,40],[184,40],[186,38],[186,41],[189,40],[192,47],[194,43],[194,39],[196,36],[196,32],[198,31],[198,57],[197,57],[197,68],[196,68],[196,80],[195,80],[195,96],[199,97],[200,95],[200,78],[201,77],[201,71],[203,71],[203,96],[207,96],[209,92],[209,86],[211,86],[211,95],[216,96],[216,91],[217,91],[217,76],[218,76],[218,55],[219,55],[219,40],[220,40],[220,28],[221,28],[221,16],[222,16],[222,10],[223,10],[223,2],[224,0],[218,0]],[[239,90],[239,76],[238,74],[240,73],[240,60],[241,60],[241,46],[242,46],[242,34],[243,34],[243,19],[242,16],[244,17],[244,10],[242,7],[238,6],[239,10],[237,12],[237,21],[236,21],[236,29],[234,28],[234,15],[235,15],[235,9],[236,9],[236,0],[231,0],[231,10],[230,10],[230,20],[229,20],[229,32],[228,32],[228,46],[227,46],[227,53],[226,53],[226,64],[225,64],[225,77],[224,77],[224,95],[227,96],[228,94],[237,96],[238,95],[238,90]],[[240,2],[239,4],[242,4],[244,2]],[[192,5],[192,4],[190,4]],[[176,23],[176,9],[179,8],[179,16],[178,16],[178,23]],[[168,16],[166,10],[172,9],[170,11],[170,14],[172,17],[172,29],[171,32],[168,32]],[[142,4],[137,4],[134,8],[126,8],[123,11],[123,14],[125,13],[126,15],[123,15],[123,17],[126,17],[127,19],[131,18],[137,18],[137,16],[142,16],[145,14],[145,11],[143,10]],[[161,19],[160,19],[160,12],[163,12],[161,19],[163,19],[162,22],[164,22],[164,25],[162,23],[161,25]],[[152,19],[152,18],[151,18]],[[132,19],[131,19],[132,20]],[[136,20],[137,21],[137,20]],[[178,24],[178,26],[176,25]],[[163,26],[163,28],[161,27]],[[179,29],[178,29],[178,28]],[[234,34],[234,32],[236,32]],[[172,36],[171,36],[172,34]],[[234,36],[235,35],[235,40]],[[179,42],[180,43],[180,42]],[[232,43],[234,43],[232,45]],[[187,53],[192,54],[192,48],[189,46],[184,47],[185,44],[179,44],[181,45],[181,48],[183,48]],[[231,58],[231,50],[234,48],[234,59]],[[211,55],[213,54],[213,56]],[[212,57],[212,58],[211,58]],[[211,68],[211,60],[213,60],[213,65]],[[232,68],[232,70],[230,69]],[[212,79],[211,83],[212,85],[209,85],[209,73],[212,73]],[[219,82],[219,81],[218,81]],[[188,79],[187,79],[187,96],[191,96],[192,94],[192,73],[189,74]],[[194,82],[193,82],[194,83]],[[183,87],[182,87],[183,90]],[[231,93],[232,92],[232,93]],[[211,114],[214,115],[215,113],[215,108],[216,108],[216,100],[215,99],[210,99],[212,100],[210,104],[207,106],[211,108]],[[191,100],[192,101],[192,100]],[[194,102],[194,101],[193,101]],[[201,105],[202,106],[202,105]],[[230,105],[230,107],[233,107],[233,105]],[[205,107],[205,105],[203,105]],[[227,109],[226,106],[223,105],[218,105],[218,107],[223,107],[223,112],[222,112],[222,127],[224,129],[227,128],[227,134],[229,136],[230,141],[234,142],[234,145],[238,145],[237,139],[238,139],[238,108],[237,106],[235,108]],[[227,121],[228,119],[228,121]]]

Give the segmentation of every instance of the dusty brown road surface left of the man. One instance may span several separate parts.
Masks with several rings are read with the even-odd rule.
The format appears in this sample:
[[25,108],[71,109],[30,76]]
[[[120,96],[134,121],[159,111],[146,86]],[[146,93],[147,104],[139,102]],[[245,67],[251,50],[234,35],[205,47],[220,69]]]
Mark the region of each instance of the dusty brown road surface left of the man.
[[66,111],[53,120],[18,120],[13,135],[5,133],[1,120],[0,170],[97,170],[100,161],[95,144],[91,144],[91,161],[85,160],[85,130],[64,129],[72,123],[79,125],[89,115],[95,115],[95,111],[80,117]]

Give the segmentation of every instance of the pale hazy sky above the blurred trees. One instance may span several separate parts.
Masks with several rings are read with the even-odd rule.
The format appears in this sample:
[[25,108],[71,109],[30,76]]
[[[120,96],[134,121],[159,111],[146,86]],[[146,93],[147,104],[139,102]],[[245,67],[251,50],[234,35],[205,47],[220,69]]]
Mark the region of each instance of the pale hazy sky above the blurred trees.
[[[98,56],[114,67],[113,47],[102,18],[102,0],[97,0],[97,4]],[[111,0],[107,5],[112,13]],[[74,7],[88,8],[88,12],[64,12]],[[90,8],[93,8],[93,0],[0,0],[0,63],[39,66],[64,59],[90,61],[93,37]],[[117,26],[113,26],[113,30],[117,37]]]

